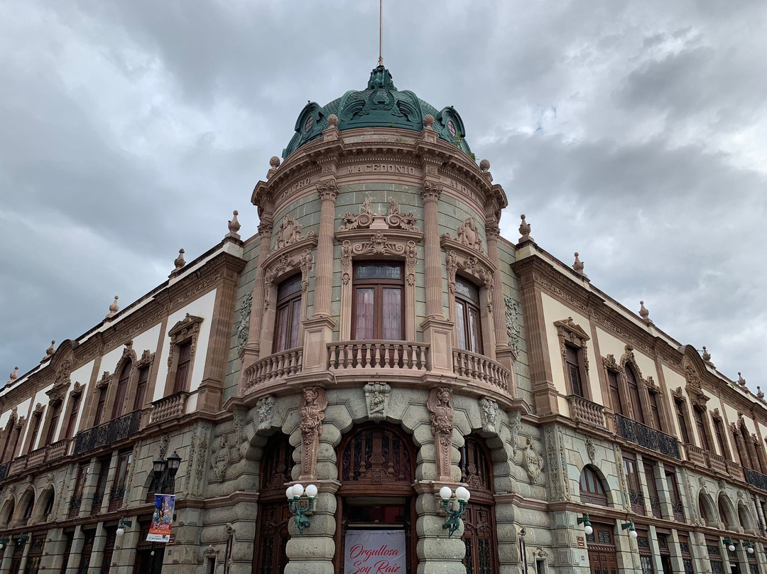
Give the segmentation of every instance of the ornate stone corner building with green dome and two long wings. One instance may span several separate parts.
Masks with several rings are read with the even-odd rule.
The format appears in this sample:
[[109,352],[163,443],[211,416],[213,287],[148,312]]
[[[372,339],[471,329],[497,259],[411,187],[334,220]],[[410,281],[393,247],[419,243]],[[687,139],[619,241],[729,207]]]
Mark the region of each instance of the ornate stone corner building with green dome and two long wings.
[[[257,235],[235,212],[219,245],[15,371],[0,572],[402,572],[375,566],[384,546],[355,555],[368,533],[407,572],[767,574],[761,393],[540,249],[525,216],[502,238],[505,193],[465,134],[375,68],[301,111],[253,190]],[[303,532],[294,483],[318,488]],[[449,536],[439,490],[460,485]],[[162,487],[173,538],[152,554]]]

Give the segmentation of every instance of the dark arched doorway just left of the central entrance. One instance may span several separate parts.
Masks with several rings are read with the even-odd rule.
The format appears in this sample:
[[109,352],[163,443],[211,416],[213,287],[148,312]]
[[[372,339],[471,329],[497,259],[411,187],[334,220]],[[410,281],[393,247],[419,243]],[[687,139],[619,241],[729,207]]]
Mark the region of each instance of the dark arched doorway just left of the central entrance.
[[285,483],[292,480],[293,464],[293,447],[288,436],[270,437],[261,459],[253,574],[281,574],[288,563],[285,545],[290,537],[291,513],[285,500]]

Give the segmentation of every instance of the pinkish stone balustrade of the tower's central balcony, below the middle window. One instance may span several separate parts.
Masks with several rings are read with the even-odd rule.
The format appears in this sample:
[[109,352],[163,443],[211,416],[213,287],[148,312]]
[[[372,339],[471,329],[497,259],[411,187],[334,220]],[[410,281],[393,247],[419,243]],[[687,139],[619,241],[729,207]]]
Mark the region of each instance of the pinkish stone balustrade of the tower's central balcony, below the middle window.
[[337,341],[328,343],[328,365],[336,372],[384,369],[426,371],[426,343],[405,341]]

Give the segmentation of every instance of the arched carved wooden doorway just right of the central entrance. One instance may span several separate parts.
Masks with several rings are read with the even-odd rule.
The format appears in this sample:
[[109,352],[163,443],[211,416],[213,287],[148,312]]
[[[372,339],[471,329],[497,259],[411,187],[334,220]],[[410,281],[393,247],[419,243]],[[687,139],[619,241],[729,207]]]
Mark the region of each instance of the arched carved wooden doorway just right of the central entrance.
[[463,543],[466,574],[499,571],[498,539],[495,529],[495,499],[492,486],[492,459],[481,437],[466,437],[461,448],[461,481],[472,496],[463,515]]

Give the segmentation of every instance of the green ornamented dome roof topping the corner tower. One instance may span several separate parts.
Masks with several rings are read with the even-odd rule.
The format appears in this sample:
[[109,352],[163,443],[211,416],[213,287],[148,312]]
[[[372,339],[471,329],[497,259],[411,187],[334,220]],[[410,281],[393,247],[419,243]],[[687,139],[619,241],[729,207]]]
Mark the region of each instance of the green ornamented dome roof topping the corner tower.
[[338,117],[339,130],[351,130],[354,127],[399,127],[405,130],[423,130],[423,117],[434,117],[432,129],[439,137],[466,153],[471,153],[466,143],[466,130],[463,120],[453,106],[436,107],[427,104],[410,90],[398,91],[394,87],[391,74],[378,66],[370,72],[367,88],[361,91],[350,90],[343,96],[320,106],[310,101],[298,114],[295,123],[295,135],[282,150],[282,157],[288,157],[299,147],[321,136],[328,128],[328,117]]

